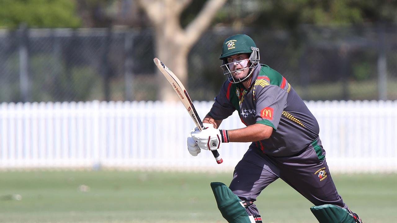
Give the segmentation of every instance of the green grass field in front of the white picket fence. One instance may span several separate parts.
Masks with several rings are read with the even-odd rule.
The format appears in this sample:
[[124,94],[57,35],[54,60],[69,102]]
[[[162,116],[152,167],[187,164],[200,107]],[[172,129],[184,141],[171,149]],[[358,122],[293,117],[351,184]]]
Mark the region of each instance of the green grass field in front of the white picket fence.
[[[333,178],[365,223],[396,222],[397,174]],[[231,173],[0,172],[0,222],[224,223],[209,184],[230,180]],[[264,223],[317,222],[312,204],[281,180],[256,204]]]

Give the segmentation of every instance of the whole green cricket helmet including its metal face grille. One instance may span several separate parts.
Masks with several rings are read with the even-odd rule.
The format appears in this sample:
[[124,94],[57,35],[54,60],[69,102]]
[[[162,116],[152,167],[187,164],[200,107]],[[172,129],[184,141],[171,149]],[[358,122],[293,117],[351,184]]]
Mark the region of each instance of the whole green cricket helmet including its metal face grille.
[[[235,79],[232,75],[232,72],[238,72],[243,69],[230,70],[230,67],[232,67],[233,63],[242,63],[243,61],[227,63],[227,57],[243,53],[251,54],[248,59],[251,65],[249,67],[243,68],[250,69],[250,71],[249,74],[243,79]],[[255,67],[259,63],[259,58],[259,49],[256,47],[254,40],[245,34],[237,34],[227,37],[222,45],[222,54],[219,57],[219,59],[223,61],[221,68],[224,70],[224,75],[229,75],[229,81],[231,83],[240,83],[246,81],[254,70],[251,68]]]

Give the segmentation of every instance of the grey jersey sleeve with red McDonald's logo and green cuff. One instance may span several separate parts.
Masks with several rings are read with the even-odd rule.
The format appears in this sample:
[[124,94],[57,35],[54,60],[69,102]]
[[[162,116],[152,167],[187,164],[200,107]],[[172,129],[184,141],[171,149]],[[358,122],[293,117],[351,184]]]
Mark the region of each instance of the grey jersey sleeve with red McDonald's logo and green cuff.
[[287,104],[287,90],[277,85],[254,86],[256,101],[256,123],[273,127],[277,130],[281,114]]

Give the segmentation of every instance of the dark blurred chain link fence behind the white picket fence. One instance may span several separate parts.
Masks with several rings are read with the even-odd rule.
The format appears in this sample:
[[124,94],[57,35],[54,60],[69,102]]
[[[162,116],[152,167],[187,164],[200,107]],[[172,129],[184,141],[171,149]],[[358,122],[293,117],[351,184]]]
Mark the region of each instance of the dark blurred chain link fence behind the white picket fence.
[[[226,77],[224,39],[250,35],[261,63],[279,71],[304,100],[396,100],[397,27],[299,31],[215,28],[189,54],[187,88],[212,100]],[[151,30],[25,29],[0,31],[0,101],[157,100]],[[170,55],[172,56],[172,55]],[[161,58],[160,58],[161,59]],[[172,67],[170,67],[172,69]]]

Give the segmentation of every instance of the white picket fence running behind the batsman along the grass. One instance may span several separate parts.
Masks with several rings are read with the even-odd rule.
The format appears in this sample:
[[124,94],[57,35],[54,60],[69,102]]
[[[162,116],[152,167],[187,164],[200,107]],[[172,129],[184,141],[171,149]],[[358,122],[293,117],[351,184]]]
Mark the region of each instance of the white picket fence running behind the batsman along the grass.
[[[212,102],[194,102],[201,118]],[[331,171],[397,172],[397,101],[307,102]],[[190,156],[195,127],[180,102],[0,104],[0,168],[111,167],[230,171],[249,143]],[[243,127],[234,113],[221,128]],[[294,137],[294,136],[291,136]]]

